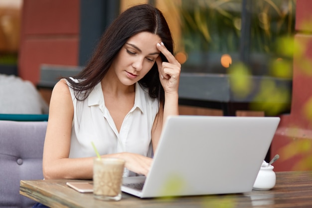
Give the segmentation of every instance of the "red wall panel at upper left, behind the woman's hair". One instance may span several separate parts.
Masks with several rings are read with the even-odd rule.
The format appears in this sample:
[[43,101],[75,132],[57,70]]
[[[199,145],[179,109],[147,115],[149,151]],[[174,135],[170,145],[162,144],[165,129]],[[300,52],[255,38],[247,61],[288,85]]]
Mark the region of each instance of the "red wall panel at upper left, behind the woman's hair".
[[18,75],[37,84],[41,64],[78,65],[79,0],[24,0]]

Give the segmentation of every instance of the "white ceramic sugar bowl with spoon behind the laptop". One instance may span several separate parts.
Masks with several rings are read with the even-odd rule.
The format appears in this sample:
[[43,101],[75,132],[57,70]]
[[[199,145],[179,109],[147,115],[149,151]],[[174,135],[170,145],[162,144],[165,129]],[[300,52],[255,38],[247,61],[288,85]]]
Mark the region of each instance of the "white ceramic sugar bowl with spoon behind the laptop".
[[268,163],[265,161],[262,163],[256,181],[254,183],[254,190],[270,190],[275,186],[276,175],[273,171],[274,166],[268,166]]

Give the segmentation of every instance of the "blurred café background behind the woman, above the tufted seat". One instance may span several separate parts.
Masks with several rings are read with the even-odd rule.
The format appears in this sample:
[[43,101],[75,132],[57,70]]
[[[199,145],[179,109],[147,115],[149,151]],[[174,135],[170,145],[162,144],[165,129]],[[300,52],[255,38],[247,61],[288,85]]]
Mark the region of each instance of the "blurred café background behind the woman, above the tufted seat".
[[311,0],[1,0],[0,120],[46,122],[55,83],[140,3],[169,24],[180,115],[280,117],[265,160],[280,156],[275,172],[312,171]]

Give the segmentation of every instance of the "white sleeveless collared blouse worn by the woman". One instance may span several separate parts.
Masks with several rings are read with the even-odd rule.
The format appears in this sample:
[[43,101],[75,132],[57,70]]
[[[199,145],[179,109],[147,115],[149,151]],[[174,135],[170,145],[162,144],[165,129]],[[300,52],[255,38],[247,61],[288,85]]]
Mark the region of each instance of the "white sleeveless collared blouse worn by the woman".
[[[135,104],[126,115],[120,132],[105,106],[101,83],[84,101],[78,101],[73,89],[69,87],[69,90],[74,104],[69,158],[96,156],[91,142],[100,155],[130,152],[152,157],[151,132],[159,102],[149,96],[147,89],[136,83]],[[129,171],[124,174],[133,175]]]

